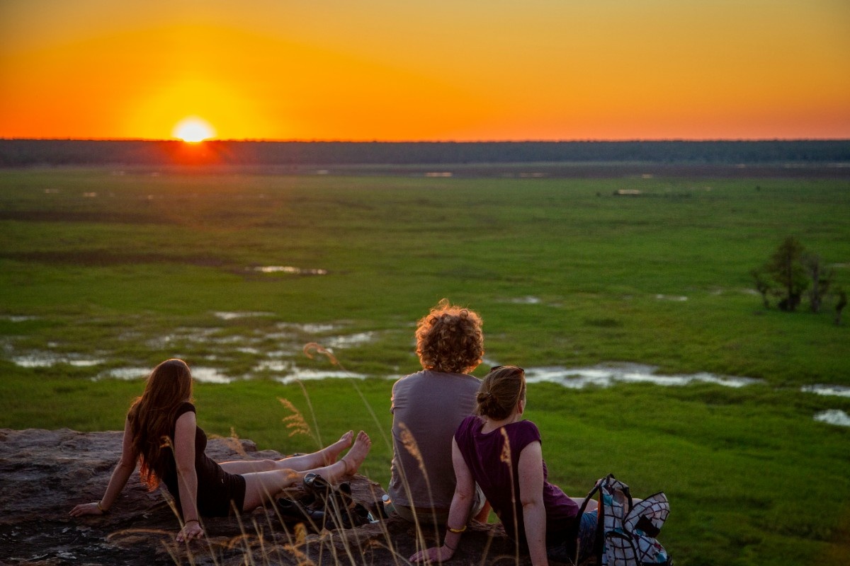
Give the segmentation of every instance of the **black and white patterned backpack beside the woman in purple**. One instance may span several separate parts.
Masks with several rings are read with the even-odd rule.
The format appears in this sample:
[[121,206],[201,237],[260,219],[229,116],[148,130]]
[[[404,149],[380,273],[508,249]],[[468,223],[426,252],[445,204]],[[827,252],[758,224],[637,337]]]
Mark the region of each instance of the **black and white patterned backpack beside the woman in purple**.
[[579,509],[584,513],[599,492],[595,553],[601,566],[672,566],[672,559],[655,537],[670,514],[663,491],[632,505],[629,486],[608,474],[599,479]]

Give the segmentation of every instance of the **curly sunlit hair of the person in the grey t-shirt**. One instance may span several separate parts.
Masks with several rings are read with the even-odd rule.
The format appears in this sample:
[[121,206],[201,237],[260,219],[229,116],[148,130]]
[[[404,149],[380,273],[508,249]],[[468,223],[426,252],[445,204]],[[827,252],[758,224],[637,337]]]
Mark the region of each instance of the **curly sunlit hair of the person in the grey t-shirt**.
[[416,323],[416,355],[423,369],[469,373],[484,356],[481,317],[475,311],[440,300]]

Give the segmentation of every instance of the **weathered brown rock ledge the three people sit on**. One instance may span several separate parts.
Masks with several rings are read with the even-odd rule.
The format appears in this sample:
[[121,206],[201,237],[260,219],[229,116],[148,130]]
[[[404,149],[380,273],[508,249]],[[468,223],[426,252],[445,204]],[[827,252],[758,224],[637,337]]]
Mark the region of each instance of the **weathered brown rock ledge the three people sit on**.
[[[401,565],[422,544],[437,541],[433,527],[417,534],[400,518],[305,533],[281,524],[274,509],[261,508],[238,518],[205,519],[205,540],[177,543],[178,519],[167,495],[147,491],[138,472],[111,513],[71,518],[71,507],[103,495],[121,451],[121,437],[121,432],[0,429],[0,563]],[[258,451],[249,440],[222,438],[210,439],[207,454],[219,462],[283,457],[275,451]],[[363,476],[350,483],[354,499],[377,511],[381,486]],[[293,496],[298,496],[297,490]],[[500,526],[474,524],[450,563],[527,566],[530,561],[527,555],[516,556]]]

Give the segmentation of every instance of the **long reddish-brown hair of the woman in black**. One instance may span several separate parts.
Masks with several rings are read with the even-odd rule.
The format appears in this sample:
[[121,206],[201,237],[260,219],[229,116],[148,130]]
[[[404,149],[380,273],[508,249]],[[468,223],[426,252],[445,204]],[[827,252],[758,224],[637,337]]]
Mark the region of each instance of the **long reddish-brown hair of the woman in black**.
[[178,406],[192,398],[192,375],[183,360],[163,361],[150,372],[142,396],[127,412],[133,451],[139,455],[139,475],[150,490],[156,489],[165,473],[170,451],[174,414]]

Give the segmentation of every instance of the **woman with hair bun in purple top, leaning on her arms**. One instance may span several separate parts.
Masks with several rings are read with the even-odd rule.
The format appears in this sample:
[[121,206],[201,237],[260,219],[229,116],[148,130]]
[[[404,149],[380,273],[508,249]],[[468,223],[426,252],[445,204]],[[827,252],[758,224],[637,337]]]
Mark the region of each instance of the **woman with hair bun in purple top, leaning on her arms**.
[[445,562],[466,530],[477,483],[518,546],[527,546],[531,563],[546,566],[575,559],[575,526],[579,527],[582,556],[592,551],[596,503],[577,517],[582,499],[574,499],[547,480],[536,424],[522,418],[525,411],[525,372],[522,367],[497,366],[481,382],[476,415],[458,426],[451,445],[457,487],[451,500],[443,546],[416,552],[411,562]]

